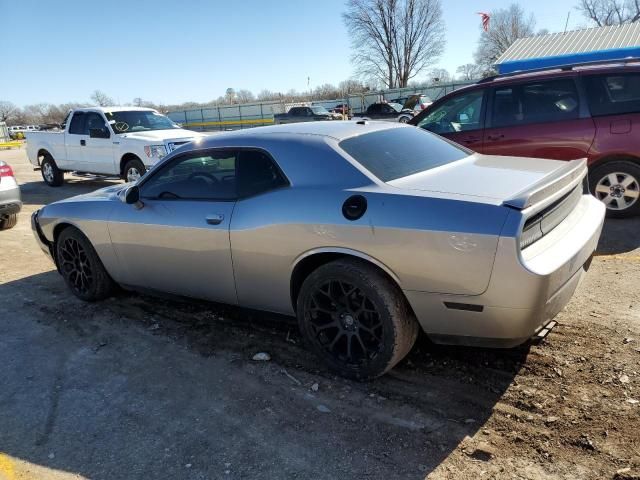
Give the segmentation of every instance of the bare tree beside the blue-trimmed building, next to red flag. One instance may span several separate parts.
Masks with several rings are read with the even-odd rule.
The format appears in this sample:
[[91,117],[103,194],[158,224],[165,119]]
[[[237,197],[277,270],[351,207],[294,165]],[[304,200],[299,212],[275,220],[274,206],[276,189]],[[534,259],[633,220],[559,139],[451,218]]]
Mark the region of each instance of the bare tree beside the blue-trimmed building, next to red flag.
[[476,64],[483,74],[493,69],[493,64],[518,38],[533,35],[536,26],[533,14],[526,14],[517,3],[509,8],[492,11],[488,31],[483,31],[475,53]]

